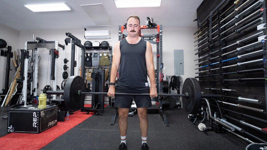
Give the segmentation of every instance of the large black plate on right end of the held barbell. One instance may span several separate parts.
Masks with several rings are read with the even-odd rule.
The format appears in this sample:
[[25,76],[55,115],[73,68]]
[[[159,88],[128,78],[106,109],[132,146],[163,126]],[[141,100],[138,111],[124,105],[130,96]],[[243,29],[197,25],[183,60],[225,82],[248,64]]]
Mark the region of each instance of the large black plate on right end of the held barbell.
[[182,94],[188,93],[188,97],[183,97],[183,107],[187,114],[196,114],[201,108],[201,90],[199,82],[195,78],[187,78],[183,84]]

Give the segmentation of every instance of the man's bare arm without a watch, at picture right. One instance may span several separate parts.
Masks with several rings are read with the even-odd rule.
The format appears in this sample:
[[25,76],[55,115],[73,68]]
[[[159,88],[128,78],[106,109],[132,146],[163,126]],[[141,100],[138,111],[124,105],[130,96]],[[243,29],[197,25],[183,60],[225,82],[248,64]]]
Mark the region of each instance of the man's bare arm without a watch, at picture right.
[[152,53],[152,46],[151,44],[147,41],[147,50],[145,54],[146,58],[146,67],[147,67],[147,73],[148,77],[150,80],[150,97],[156,97],[158,96],[157,90],[156,90],[156,83],[155,83],[155,68],[154,68],[154,63],[153,63],[153,53]]

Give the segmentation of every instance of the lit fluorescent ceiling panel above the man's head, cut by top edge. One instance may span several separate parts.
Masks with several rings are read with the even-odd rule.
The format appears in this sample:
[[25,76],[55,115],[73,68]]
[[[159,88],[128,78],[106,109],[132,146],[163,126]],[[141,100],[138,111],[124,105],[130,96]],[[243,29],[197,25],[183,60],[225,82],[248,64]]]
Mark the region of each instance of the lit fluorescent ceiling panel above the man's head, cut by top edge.
[[159,7],[161,0],[115,0],[117,8],[125,7]]

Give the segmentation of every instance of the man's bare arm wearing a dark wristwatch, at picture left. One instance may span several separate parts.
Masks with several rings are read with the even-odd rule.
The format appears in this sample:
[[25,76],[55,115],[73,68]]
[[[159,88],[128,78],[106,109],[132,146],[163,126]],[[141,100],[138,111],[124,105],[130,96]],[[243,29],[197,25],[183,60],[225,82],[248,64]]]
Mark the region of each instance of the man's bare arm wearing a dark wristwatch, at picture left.
[[[114,46],[114,53],[112,57],[112,66],[111,66],[111,73],[110,73],[110,82],[115,83],[118,69],[120,66],[120,41],[118,41]],[[115,96],[115,85],[109,85],[109,97]]]

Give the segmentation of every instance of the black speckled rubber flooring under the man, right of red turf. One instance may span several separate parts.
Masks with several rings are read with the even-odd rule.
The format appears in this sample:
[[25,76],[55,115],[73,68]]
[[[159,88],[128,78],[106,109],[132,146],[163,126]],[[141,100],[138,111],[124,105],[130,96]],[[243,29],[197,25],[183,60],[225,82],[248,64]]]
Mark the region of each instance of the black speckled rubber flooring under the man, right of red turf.
[[[120,144],[118,118],[116,118],[114,126],[110,125],[111,117],[115,110],[114,107],[107,106],[104,114],[91,116],[42,149],[118,149]],[[165,127],[163,119],[158,114],[148,115],[149,131],[147,143],[150,150],[243,150],[248,145],[231,133],[199,131],[188,120],[187,114],[181,108],[169,109],[165,112],[169,120],[169,127]],[[129,150],[139,150],[141,146],[137,114],[128,118],[127,145]]]

